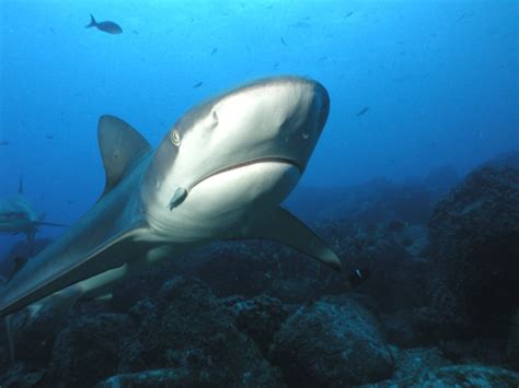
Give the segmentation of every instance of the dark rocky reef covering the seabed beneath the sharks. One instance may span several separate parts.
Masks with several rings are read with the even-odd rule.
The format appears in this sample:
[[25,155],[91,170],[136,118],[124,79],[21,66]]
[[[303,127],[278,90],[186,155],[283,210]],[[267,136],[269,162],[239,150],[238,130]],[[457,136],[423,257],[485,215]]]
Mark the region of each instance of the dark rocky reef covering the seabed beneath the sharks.
[[516,386],[519,169],[484,165],[447,192],[458,180],[442,167],[336,191],[312,227],[342,273],[275,243],[218,243],[111,301],[16,314],[0,386]]

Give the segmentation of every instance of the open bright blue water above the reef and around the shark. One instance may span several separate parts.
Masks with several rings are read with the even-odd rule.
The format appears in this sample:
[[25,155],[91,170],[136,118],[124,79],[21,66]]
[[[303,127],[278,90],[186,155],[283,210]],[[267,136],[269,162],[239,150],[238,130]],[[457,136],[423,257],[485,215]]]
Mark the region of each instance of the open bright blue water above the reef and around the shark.
[[[301,185],[463,174],[519,148],[518,4],[2,0],[0,196],[23,175],[48,221],[72,223],[104,186],[100,115],[157,144],[189,106],[285,73],[332,101]],[[84,28],[89,13],[124,33]],[[3,255],[24,236],[0,238]]]

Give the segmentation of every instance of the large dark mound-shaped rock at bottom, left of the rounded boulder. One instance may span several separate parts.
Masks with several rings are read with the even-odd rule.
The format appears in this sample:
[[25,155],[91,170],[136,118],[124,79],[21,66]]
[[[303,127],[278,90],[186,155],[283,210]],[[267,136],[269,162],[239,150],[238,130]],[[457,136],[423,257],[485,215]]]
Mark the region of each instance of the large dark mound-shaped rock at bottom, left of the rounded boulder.
[[233,325],[231,314],[197,280],[168,281],[143,313],[137,333],[123,349],[120,372],[174,368],[189,381],[214,386],[280,386],[279,369]]

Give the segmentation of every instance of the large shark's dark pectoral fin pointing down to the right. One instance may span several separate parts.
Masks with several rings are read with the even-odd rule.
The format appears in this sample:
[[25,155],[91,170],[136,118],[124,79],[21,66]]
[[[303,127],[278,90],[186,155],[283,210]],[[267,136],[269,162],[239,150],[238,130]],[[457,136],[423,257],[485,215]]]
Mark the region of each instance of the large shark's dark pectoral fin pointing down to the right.
[[253,228],[249,238],[268,238],[296,248],[335,270],[341,260],[326,244],[288,210],[276,209],[267,221]]

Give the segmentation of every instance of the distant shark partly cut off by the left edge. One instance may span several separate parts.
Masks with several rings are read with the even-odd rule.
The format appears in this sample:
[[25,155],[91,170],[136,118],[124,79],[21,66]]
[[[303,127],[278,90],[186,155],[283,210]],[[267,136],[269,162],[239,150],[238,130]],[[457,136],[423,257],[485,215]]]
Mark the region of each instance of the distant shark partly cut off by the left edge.
[[23,179],[20,179],[18,196],[0,199],[0,233],[25,234],[31,254],[39,226],[66,226],[46,222],[44,217],[45,214],[36,213],[33,204],[23,196]]

